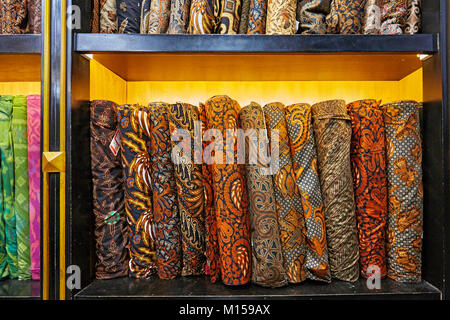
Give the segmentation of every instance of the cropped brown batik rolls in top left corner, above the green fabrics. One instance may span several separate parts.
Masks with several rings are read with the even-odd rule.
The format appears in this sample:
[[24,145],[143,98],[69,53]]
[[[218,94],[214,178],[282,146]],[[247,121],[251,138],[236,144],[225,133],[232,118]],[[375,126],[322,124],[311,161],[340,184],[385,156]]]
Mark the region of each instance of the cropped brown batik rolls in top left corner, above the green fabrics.
[[0,34],[41,33],[41,1],[0,1]]

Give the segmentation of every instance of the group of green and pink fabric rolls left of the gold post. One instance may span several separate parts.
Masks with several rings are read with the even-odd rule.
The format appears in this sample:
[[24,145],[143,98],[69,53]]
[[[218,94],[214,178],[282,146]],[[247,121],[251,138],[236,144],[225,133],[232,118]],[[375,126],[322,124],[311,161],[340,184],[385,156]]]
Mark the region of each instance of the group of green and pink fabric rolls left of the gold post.
[[0,279],[40,279],[41,98],[0,96]]

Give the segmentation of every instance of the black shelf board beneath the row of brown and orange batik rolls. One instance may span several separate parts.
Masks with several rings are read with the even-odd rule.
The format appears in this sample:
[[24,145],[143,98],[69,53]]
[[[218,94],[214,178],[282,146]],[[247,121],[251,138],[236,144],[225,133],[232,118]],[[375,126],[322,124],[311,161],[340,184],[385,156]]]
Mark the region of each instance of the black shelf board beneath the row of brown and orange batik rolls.
[[331,284],[307,281],[284,288],[256,285],[228,287],[211,284],[207,277],[183,277],[175,280],[119,278],[95,280],[81,290],[76,299],[440,299],[441,292],[427,282],[400,283],[384,279],[381,289],[370,290],[366,280]]

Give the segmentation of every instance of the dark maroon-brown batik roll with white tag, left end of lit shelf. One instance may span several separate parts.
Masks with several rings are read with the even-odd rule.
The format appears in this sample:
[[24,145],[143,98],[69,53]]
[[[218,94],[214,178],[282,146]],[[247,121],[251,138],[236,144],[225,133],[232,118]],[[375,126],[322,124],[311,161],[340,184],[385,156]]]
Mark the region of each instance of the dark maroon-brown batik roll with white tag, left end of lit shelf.
[[117,105],[111,101],[91,102],[90,143],[97,279],[128,275],[128,225],[116,108]]

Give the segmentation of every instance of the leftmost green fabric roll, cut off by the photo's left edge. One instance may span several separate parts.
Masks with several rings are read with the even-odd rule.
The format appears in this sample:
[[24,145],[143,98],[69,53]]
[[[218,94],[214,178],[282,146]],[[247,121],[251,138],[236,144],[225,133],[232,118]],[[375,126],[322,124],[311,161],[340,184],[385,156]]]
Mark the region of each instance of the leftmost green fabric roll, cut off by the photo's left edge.
[[17,237],[14,214],[14,148],[12,137],[13,96],[0,96],[0,278],[17,278]]

